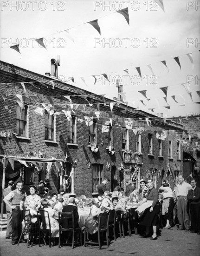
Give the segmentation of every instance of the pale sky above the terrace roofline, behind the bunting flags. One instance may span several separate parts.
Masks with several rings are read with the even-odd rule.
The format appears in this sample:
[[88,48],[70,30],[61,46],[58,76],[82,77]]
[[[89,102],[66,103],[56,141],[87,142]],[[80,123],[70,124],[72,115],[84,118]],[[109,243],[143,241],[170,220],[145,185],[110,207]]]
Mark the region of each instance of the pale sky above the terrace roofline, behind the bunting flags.
[[[46,71],[50,72],[50,60],[60,55],[58,75],[65,79],[74,77],[75,83],[69,83],[76,87],[96,94],[106,94],[106,97],[112,99],[117,97],[114,76],[119,75],[123,92],[126,92],[126,101],[135,108],[139,107],[144,111],[155,108],[155,113],[164,113],[168,117],[199,114],[200,105],[193,102],[200,101],[196,93],[200,90],[200,81],[197,81],[200,79],[200,1],[163,0],[163,4],[165,12],[156,6],[155,1],[150,0],[148,3],[143,0],[121,1],[121,4],[119,1],[38,0],[34,7],[33,1],[1,0],[0,60],[45,74]],[[18,10],[14,5],[17,5]],[[123,15],[115,13],[126,6],[129,7],[129,25]],[[84,24],[96,19],[101,35],[90,24]],[[66,32],[58,33],[68,28],[71,28],[69,33],[75,43],[66,37]],[[47,50],[39,47],[36,42],[32,47],[30,38],[40,37],[46,39]],[[124,39],[127,40],[127,46]],[[132,41],[134,39],[136,40]],[[104,41],[109,40],[111,45],[103,45]],[[189,45],[188,40],[191,42]],[[99,44],[95,45],[97,41]],[[9,48],[18,43],[21,54]],[[155,48],[151,47],[153,43]],[[187,53],[193,53],[194,70],[185,55]],[[173,60],[177,56],[180,56],[181,70]],[[167,61],[169,72],[160,62],[164,60]],[[156,81],[151,77],[148,64],[151,64]],[[135,67],[141,67],[140,82]],[[128,74],[124,69],[129,69],[132,83],[130,78],[125,81],[124,76]],[[101,81],[94,85],[91,75],[103,73],[110,76],[111,84],[103,82],[101,76]],[[190,82],[193,101],[181,85],[187,82],[188,76],[193,80]],[[84,77],[87,86],[80,77]],[[170,110],[161,107],[167,104],[163,100],[165,94],[158,89],[166,86]],[[139,90],[147,90],[150,101],[138,93]],[[183,94],[185,106],[179,106],[184,103],[179,94]],[[171,95],[177,95],[176,101],[179,104]],[[160,109],[155,98],[160,102]]]

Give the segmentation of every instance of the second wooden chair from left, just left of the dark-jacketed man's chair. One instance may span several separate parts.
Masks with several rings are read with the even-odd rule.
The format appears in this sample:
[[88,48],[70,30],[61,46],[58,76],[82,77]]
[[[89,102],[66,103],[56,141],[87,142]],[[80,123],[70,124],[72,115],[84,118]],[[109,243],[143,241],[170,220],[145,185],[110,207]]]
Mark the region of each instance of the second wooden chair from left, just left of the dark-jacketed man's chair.
[[[41,221],[42,221],[41,231],[45,234],[45,238],[49,237],[49,247],[51,247],[51,245],[52,245],[52,238],[53,238],[53,246],[54,246],[55,245],[55,239],[54,239],[54,237],[52,237],[52,230],[51,230],[51,222],[50,222],[50,218],[49,218],[49,212],[45,211],[44,209],[41,209],[41,210],[39,210],[39,213],[41,215]],[[45,217],[45,215],[47,216],[47,218]],[[47,229],[46,220],[48,220],[49,229]]]

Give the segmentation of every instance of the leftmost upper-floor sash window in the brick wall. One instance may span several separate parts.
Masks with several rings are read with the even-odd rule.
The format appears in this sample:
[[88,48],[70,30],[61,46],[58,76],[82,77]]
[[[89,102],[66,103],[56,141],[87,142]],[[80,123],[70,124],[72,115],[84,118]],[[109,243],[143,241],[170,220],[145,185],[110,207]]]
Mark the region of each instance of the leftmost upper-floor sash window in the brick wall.
[[27,105],[21,108],[17,104],[17,135],[20,137],[27,137],[27,110]]

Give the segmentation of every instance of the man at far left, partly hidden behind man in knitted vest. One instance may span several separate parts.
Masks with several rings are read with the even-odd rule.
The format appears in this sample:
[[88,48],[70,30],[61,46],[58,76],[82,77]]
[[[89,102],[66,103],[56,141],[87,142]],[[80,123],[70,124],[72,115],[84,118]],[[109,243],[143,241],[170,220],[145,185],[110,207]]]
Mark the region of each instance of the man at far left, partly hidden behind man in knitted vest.
[[[14,186],[13,181],[8,182],[8,186],[3,190],[3,197],[9,195]],[[12,238],[12,209],[6,204],[6,215],[7,215],[7,227],[6,227],[6,239]]]

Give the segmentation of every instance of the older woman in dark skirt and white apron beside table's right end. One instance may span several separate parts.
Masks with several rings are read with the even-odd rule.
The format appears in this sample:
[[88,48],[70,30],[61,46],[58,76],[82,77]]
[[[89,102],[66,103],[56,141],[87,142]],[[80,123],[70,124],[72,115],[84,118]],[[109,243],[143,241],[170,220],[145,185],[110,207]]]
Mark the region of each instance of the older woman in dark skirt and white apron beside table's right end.
[[154,183],[151,180],[148,180],[147,187],[149,189],[147,203],[150,202],[151,206],[145,209],[144,213],[142,214],[140,224],[146,226],[146,237],[148,237],[150,226],[153,226],[153,235],[151,236],[151,240],[156,240],[156,225],[158,223],[158,214],[160,212],[158,191],[154,188]]

